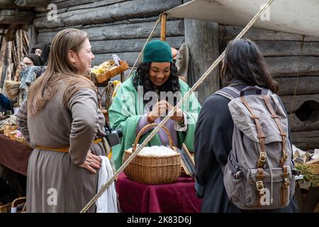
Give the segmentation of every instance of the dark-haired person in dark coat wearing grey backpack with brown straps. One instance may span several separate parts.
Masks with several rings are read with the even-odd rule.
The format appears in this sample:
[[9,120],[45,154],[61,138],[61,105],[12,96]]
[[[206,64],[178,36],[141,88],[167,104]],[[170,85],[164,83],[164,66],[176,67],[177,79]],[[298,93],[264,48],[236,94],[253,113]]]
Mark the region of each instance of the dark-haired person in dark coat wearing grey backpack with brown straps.
[[225,52],[224,87],[203,103],[194,150],[202,212],[297,212],[289,121],[257,45]]

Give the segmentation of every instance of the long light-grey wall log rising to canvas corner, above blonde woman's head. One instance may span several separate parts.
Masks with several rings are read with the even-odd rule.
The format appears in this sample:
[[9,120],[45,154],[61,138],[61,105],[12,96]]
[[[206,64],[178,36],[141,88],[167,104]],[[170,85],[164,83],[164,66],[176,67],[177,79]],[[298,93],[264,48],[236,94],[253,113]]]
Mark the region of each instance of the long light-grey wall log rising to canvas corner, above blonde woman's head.
[[109,23],[125,18],[140,18],[158,16],[159,13],[181,4],[181,0],[136,0],[124,1],[110,6],[99,6],[88,9],[78,9],[57,14],[56,21],[48,21],[47,17],[35,18],[35,28],[59,28],[79,24]]

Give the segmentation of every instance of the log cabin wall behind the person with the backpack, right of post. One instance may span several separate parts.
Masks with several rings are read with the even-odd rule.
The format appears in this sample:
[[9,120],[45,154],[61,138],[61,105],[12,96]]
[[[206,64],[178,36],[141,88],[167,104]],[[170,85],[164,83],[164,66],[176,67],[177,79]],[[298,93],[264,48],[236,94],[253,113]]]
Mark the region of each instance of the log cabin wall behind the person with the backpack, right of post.
[[[241,29],[219,26],[220,53]],[[300,57],[302,35],[251,28],[245,37],[259,46],[272,77],[279,83],[293,144],[304,150],[319,148],[319,38],[306,36]]]

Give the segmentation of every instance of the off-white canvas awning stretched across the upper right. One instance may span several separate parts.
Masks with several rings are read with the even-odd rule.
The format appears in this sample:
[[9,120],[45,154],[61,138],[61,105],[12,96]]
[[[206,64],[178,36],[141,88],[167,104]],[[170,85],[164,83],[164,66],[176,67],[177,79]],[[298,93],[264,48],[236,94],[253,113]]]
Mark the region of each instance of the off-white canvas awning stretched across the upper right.
[[[267,0],[194,0],[165,14],[172,18],[246,26],[266,3]],[[268,12],[269,21],[258,20],[252,28],[319,37],[318,0],[274,0]]]

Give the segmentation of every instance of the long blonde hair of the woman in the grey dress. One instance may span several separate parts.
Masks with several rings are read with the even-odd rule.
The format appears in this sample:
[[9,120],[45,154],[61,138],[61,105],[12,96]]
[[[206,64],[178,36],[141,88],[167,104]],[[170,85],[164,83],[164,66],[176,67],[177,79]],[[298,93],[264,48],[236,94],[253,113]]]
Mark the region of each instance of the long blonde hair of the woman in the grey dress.
[[77,67],[69,60],[69,50],[79,52],[81,45],[88,38],[87,33],[74,28],[64,29],[55,35],[45,73],[30,86],[28,113],[37,114],[57,93],[58,88],[63,90],[63,104],[66,107],[69,99],[79,89],[91,88],[96,91],[94,84],[83,75],[79,75]]

